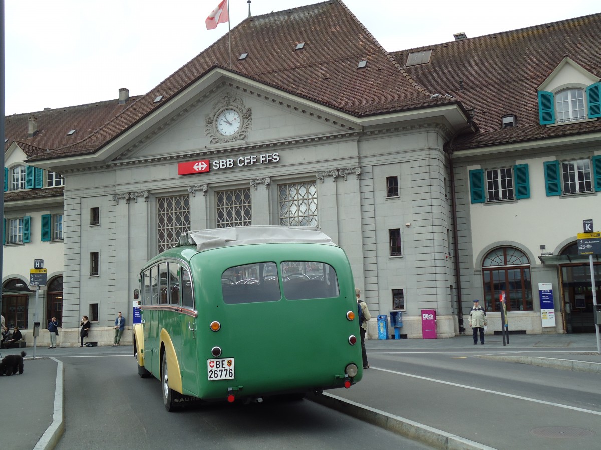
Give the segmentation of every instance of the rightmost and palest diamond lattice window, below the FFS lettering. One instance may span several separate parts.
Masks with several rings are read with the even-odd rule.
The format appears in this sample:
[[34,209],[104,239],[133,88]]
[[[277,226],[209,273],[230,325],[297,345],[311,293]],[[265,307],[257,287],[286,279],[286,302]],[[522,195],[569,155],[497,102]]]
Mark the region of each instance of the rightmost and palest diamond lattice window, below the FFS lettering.
[[279,224],[317,226],[317,186],[315,182],[285,184],[279,187]]

